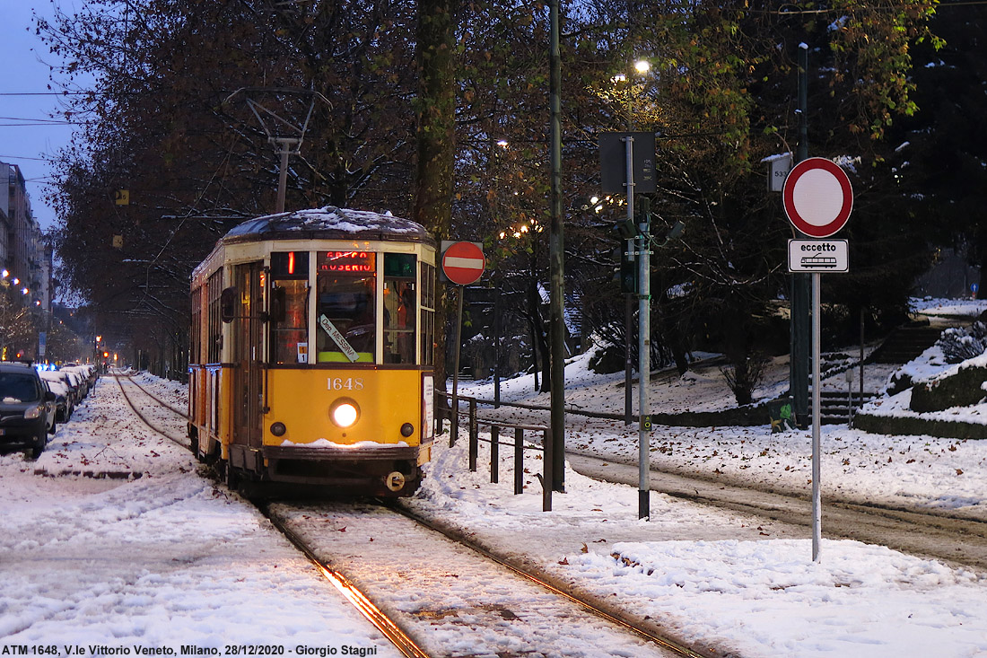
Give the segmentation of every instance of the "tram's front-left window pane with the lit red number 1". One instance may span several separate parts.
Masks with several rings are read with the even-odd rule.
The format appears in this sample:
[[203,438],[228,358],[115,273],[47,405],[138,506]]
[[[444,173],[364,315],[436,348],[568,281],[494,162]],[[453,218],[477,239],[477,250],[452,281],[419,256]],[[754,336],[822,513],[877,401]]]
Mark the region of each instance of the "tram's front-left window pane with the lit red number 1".
[[275,364],[308,363],[308,264],[308,252],[274,252],[270,255],[274,298],[277,303],[283,301],[284,305],[277,312],[279,317],[270,324],[271,354]]

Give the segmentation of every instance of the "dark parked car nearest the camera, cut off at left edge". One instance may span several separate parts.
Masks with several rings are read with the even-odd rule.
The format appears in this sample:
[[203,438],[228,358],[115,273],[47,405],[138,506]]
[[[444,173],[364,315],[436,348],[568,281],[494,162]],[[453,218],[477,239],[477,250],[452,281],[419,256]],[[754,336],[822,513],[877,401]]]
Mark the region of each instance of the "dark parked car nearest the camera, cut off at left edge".
[[55,428],[55,394],[44,386],[38,370],[0,363],[0,448],[23,450],[37,459]]

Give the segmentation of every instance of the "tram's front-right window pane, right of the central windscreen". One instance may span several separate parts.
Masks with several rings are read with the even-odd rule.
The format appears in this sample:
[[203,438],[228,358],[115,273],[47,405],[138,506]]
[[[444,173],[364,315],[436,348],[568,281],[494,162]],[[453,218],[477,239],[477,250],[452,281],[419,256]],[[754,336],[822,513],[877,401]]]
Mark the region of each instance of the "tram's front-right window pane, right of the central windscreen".
[[384,363],[415,363],[415,254],[384,254]]

